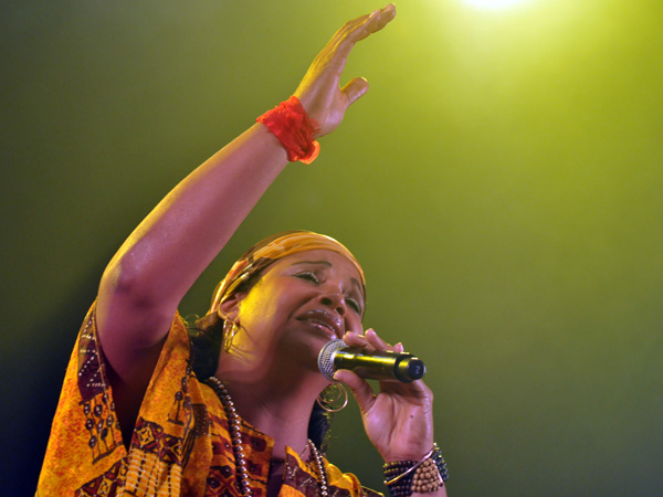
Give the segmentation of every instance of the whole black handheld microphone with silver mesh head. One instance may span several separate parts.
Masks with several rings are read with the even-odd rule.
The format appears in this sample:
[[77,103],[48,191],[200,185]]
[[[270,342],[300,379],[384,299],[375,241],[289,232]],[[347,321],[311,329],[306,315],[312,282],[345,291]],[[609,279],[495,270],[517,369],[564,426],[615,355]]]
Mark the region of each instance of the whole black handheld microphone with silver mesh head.
[[403,383],[419,380],[425,373],[423,361],[411,353],[365,350],[348,347],[339,339],[323,347],[318,355],[318,368],[330,381],[339,369],[349,369],[370,380],[398,380]]

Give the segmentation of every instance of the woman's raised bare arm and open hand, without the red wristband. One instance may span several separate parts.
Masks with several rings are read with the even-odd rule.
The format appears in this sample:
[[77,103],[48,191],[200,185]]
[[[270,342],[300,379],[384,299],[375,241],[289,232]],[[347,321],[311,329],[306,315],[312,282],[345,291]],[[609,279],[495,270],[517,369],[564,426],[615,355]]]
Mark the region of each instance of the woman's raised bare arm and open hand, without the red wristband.
[[[361,78],[339,87],[352,46],[394,13],[388,6],[347,22],[311,65],[295,95],[319,124],[318,136],[334,130],[368,89]],[[96,317],[119,411],[137,411],[181,298],[286,163],[275,136],[253,125],[187,176],[115,254],[99,284]]]

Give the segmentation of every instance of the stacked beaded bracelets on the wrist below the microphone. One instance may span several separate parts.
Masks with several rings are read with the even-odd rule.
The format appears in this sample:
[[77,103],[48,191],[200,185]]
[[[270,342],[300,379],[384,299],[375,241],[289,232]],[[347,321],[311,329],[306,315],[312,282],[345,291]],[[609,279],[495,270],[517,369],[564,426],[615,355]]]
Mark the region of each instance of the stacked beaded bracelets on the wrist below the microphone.
[[394,461],[383,466],[385,485],[392,497],[409,497],[413,491],[430,493],[449,479],[446,462],[438,444],[419,462]]

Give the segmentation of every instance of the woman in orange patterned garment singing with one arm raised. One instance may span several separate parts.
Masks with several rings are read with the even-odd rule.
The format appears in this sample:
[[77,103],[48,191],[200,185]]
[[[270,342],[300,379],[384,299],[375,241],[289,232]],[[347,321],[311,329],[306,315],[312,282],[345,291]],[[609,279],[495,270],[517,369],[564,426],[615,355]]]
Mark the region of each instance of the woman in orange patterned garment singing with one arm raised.
[[[347,22],[294,96],[185,178],[113,257],[67,368],[38,495],[358,497],[373,494],[324,455],[325,390],[355,394],[393,496],[446,495],[422,381],[366,380],[317,355],[332,339],[402,351],[364,331],[365,278],[337,241],[271,236],[187,325],[177,307],[288,161],[309,162],[368,89],[339,78],[388,6]],[[323,392],[323,393],[322,393]]]

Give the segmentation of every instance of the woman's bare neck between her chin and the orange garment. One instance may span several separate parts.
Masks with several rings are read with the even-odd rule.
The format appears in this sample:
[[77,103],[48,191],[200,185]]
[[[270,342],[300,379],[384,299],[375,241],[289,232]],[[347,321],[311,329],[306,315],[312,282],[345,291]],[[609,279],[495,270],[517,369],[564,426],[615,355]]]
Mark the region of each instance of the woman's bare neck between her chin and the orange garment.
[[276,364],[249,367],[222,353],[215,376],[225,384],[238,413],[274,440],[273,457],[285,458],[286,445],[297,453],[304,451],[313,404],[326,385],[319,373]]

